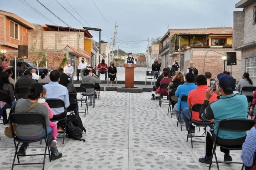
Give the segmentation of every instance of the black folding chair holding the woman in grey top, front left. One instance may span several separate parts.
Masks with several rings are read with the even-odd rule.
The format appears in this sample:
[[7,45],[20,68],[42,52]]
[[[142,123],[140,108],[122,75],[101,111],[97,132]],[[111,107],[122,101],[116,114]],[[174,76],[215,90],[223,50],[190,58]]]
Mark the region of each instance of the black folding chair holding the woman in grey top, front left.
[[[13,165],[11,167],[11,169],[13,170],[15,165],[43,165],[43,169],[45,169],[45,158],[46,155],[49,155],[49,159],[51,162],[51,154],[50,154],[50,149],[49,149],[49,144],[48,144],[48,137],[47,137],[47,129],[46,129],[46,124],[45,124],[45,117],[42,114],[39,113],[14,113],[11,115],[10,117],[10,123],[12,125],[12,123],[16,123],[18,125],[38,125],[38,124],[42,124],[42,128],[43,130],[45,130],[45,136],[43,136],[42,138],[36,139],[36,140],[20,140],[17,136],[15,136],[14,134],[14,130],[13,130],[13,126],[11,126],[11,131],[12,134],[14,136],[13,140],[14,140],[14,145],[15,145],[15,154],[14,154],[14,158],[13,158]],[[31,132],[33,132],[33,129],[31,129]],[[43,158],[43,162],[38,162],[38,163],[20,163],[19,161],[19,156],[18,156],[18,146],[20,143],[34,143],[34,142],[38,142],[38,141],[42,141],[45,140],[45,154],[29,154],[29,155],[25,155],[25,156],[36,156],[36,155],[44,155]],[[18,142],[18,144],[16,144],[16,141]],[[48,154],[46,154],[48,148]],[[15,159],[18,159],[18,163],[15,163]]]

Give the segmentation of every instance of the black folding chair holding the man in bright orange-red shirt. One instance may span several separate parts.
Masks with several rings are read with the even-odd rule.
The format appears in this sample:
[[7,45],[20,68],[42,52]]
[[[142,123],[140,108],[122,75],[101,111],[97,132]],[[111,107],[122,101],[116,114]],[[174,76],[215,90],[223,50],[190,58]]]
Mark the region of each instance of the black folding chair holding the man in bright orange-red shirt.
[[[191,114],[190,114],[190,119],[189,119],[189,127],[188,127],[188,135],[191,134],[191,125],[195,125],[195,126],[198,126],[200,128],[200,126],[201,127],[206,127],[206,126],[209,126],[209,125],[213,124],[213,122],[209,122],[209,121],[196,121],[196,120],[192,119],[193,112],[199,112],[201,106],[202,106],[202,104],[194,104],[191,108]],[[199,129],[199,131],[200,131],[200,129]],[[186,141],[188,141],[188,135],[187,135],[187,140]],[[192,137],[205,137],[205,136],[190,136],[191,148],[193,148],[193,142],[205,143],[205,141],[193,141]]]

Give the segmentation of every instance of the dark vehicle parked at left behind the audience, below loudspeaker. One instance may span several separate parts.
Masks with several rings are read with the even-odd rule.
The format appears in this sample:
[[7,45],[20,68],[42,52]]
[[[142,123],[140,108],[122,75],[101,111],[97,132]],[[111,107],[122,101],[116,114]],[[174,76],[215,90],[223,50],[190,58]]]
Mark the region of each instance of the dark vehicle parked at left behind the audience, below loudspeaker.
[[[12,71],[13,71],[13,77],[15,76],[15,60],[10,60],[10,66],[13,66]],[[16,60],[16,68],[17,68],[17,76],[22,76],[25,72],[31,71],[32,69],[36,69],[36,73],[38,73],[39,70],[39,75],[42,74],[43,69],[46,69],[46,67],[38,67],[36,64],[28,61],[22,61],[22,60]],[[52,69],[49,69],[49,72],[52,71]]]

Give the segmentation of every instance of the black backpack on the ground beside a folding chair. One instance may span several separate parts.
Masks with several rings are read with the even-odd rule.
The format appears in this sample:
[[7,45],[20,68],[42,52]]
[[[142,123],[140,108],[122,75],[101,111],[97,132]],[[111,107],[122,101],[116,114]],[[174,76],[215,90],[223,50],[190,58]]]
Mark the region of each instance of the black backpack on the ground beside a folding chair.
[[72,113],[67,115],[66,137],[85,142],[84,139],[81,139],[83,134],[85,134],[83,131],[86,133],[79,115]]

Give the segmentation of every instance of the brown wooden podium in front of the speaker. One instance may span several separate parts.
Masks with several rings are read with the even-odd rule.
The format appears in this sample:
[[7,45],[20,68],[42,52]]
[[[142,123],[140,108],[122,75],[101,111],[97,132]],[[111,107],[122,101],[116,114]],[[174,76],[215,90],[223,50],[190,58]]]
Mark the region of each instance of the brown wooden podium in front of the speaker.
[[137,88],[134,87],[134,68],[136,64],[124,64],[125,67],[125,86],[123,88]]

